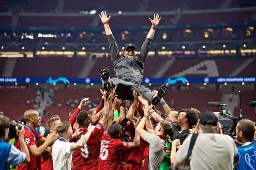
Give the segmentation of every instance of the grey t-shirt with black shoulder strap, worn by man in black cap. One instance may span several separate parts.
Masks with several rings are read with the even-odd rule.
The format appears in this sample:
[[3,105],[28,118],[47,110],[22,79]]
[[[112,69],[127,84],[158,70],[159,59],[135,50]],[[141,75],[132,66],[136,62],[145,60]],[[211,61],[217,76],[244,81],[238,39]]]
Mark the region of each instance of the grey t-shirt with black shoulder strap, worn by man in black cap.
[[[176,153],[178,162],[184,164],[192,135],[189,135]],[[228,135],[200,133],[190,157],[191,170],[233,170],[237,154],[236,144]]]

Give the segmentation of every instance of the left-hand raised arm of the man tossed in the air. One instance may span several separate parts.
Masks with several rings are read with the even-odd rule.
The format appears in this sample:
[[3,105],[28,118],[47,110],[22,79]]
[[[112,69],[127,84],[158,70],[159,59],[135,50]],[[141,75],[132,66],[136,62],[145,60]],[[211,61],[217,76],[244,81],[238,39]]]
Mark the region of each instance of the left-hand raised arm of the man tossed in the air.
[[105,29],[106,35],[108,37],[108,44],[109,44],[109,49],[110,49],[111,60],[113,62],[115,62],[117,59],[119,59],[120,54],[119,54],[118,46],[116,44],[116,40],[115,40],[113,33],[108,25],[108,22],[109,22],[111,16],[107,17],[106,11],[101,11],[99,14],[99,17],[102,21],[102,24],[104,25],[104,29]]

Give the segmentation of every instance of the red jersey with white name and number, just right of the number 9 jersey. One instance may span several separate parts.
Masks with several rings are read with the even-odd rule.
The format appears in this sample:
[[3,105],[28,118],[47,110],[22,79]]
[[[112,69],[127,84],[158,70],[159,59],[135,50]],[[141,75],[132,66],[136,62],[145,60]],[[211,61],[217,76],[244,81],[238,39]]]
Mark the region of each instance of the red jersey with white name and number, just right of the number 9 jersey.
[[98,170],[120,170],[120,154],[128,150],[129,144],[120,139],[104,135],[101,141]]

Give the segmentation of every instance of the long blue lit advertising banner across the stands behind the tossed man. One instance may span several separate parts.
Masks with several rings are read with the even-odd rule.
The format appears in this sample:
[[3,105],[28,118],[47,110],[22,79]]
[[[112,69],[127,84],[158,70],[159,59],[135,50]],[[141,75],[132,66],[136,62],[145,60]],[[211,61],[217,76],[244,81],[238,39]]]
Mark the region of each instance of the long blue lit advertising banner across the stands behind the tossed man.
[[[42,78],[42,77],[0,77],[0,83],[46,83],[46,84],[101,84],[99,78]],[[256,83],[256,77],[168,77],[168,78],[144,78],[142,84],[187,84],[187,83]]]

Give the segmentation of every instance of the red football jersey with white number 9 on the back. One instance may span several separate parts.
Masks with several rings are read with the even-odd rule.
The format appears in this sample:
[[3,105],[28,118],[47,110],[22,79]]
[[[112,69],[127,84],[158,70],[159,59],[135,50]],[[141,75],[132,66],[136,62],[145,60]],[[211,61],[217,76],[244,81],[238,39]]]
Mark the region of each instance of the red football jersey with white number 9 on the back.
[[[87,128],[81,127],[80,131],[82,130],[83,133],[81,136],[87,133]],[[103,130],[103,125],[101,123],[97,123],[87,143],[84,144],[84,147],[80,149],[82,170],[98,170],[100,149],[99,138],[102,136]],[[77,140],[79,140],[81,136],[77,136]]]

